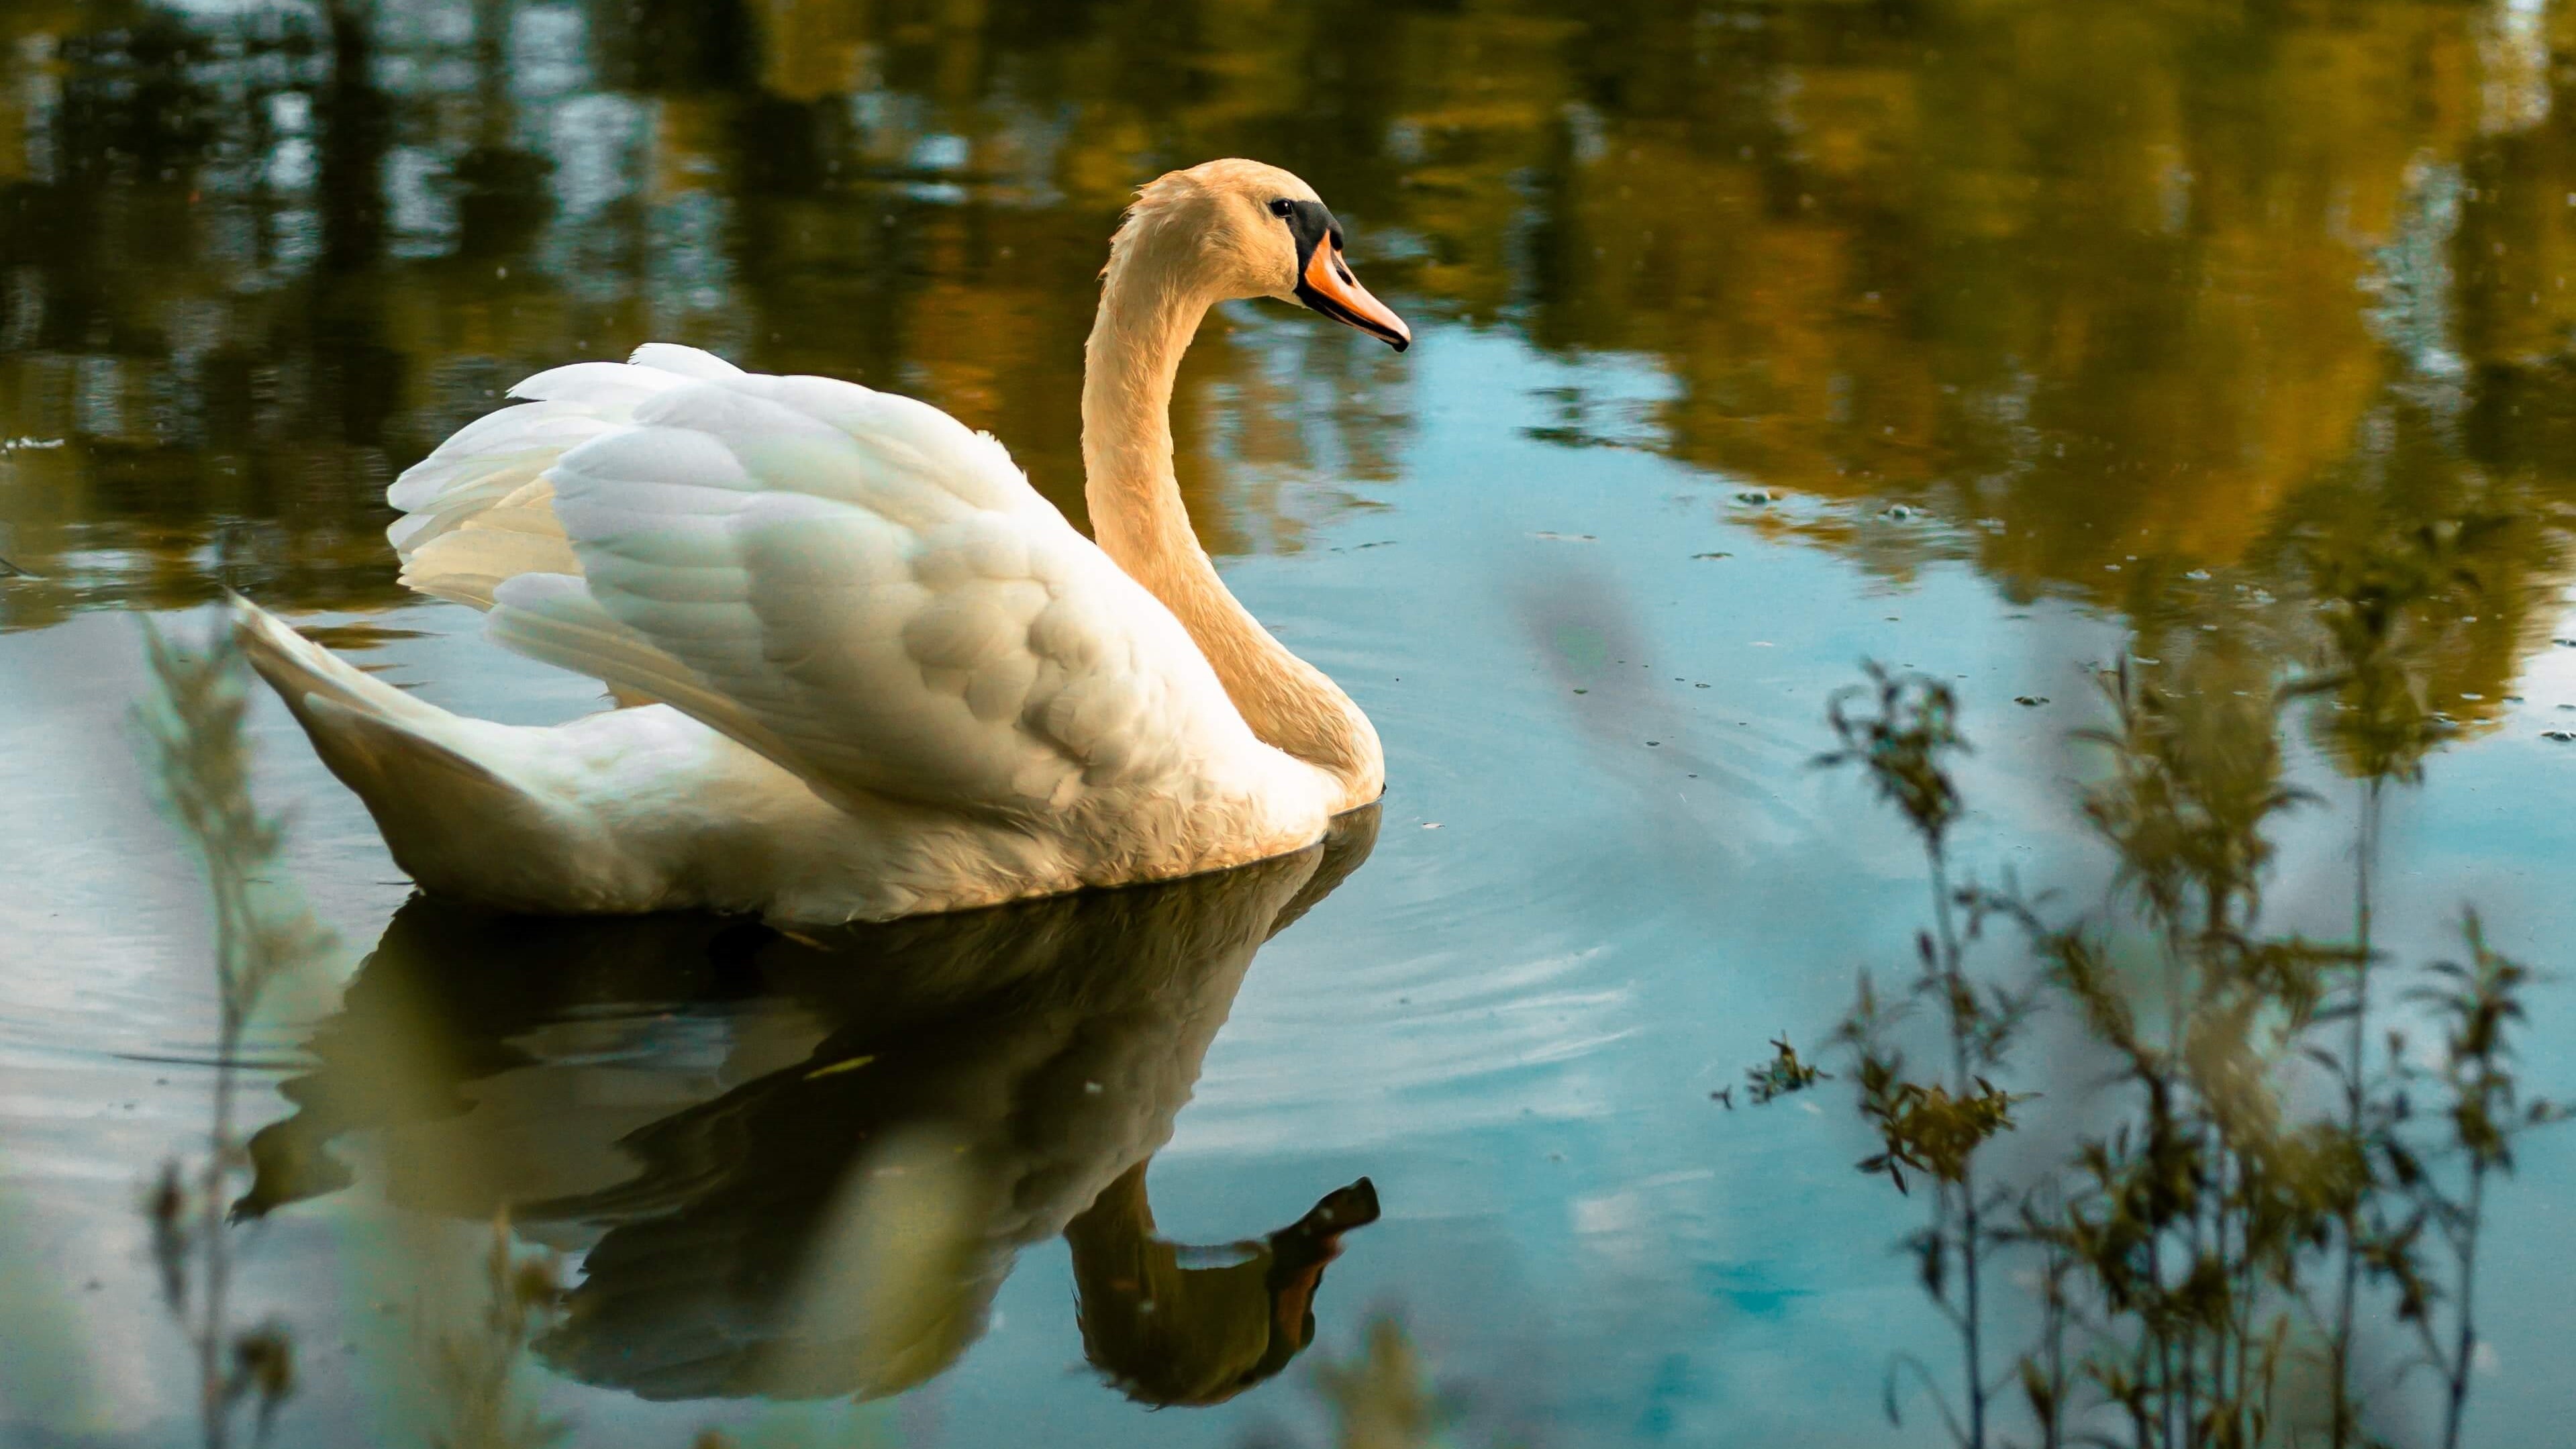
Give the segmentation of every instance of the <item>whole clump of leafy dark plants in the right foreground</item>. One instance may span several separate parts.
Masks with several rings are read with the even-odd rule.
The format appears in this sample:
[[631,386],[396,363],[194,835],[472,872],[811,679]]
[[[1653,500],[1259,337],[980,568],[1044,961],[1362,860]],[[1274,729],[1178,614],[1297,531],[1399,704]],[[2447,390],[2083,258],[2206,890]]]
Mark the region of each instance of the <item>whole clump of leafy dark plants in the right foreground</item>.
[[[2424,968],[2396,1004],[2370,991],[2380,798],[2419,780],[2447,739],[2421,685],[2424,641],[2439,633],[2409,620],[2473,587],[2455,566],[2460,535],[2424,530],[2318,569],[2339,589],[2321,607],[2324,659],[2277,692],[2105,672],[2110,723],[2076,739],[2105,759],[2081,813],[2117,865],[2102,901],[2071,919],[2009,880],[1955,880],[1947,842],[1963,803],[1950,759],[1965,739],[1945,685],[1870,664],[1868,685],[1837,695],[1839,749],[1821,764],[1860,767],[1899,808],[1932,891],[1906,988],[1891,999],[1865,973],[1834,1032],[1878,1138],[1857,1166],[1899,1192],[1935,1184],[1906,1248],[1960,1338],[1955,1387],[1914,1356],[1891,1364],[1891,1418],[1911,1374],[1950,1439],[1976,1449],[2002,1441],[1996,1395],[2014,1382],[2050,1449],[2380,1444],[2370,1423],[2393,1403],[2388,1385],[2362,1380],[2354,1349],[2357,1305],[2385,1292],[2416,1336],[2396,1372],[2434,1369],[2442,1441],[2458,1446],[2486,1194],[2512,1171],[2514,1138],[2566,1117],[2519,1096],[2512,1027],[2532,973],[2486,942],[2476,914],[2463,960]],[[2334,705],[2324,734],[2362,780],[2352,942],[2264,921],[2275,824],[2313,803],[2287,785],[2280,746],[2303,700]],[[2020,952],[1973,970],[1999,921]],[[1901,1048],[1924,1006],[1945,1071],[1914,1071]],[[2107,1114],[2074,1120],[2063,1156],[2043,1153],[1999,1186],[1986,1148],[2020,1127],[2030,1096],[1996,1084],[2012,1081],[2040,1009],[2079,1027],[2107,1066],[2110,1086],[2089,1104]],[[2427,1060],[2406,1050],[2406,1009],[2439,1032]],[[1824,1076],[1788,1037],[1772,1048],[1749,1071],[1757,1104]],[[2316,1096],[2331,1107],[2316,1109]],[[2035,1269],[2035,1336],[1989,1377],[1984,1287],[2002,1256]]]

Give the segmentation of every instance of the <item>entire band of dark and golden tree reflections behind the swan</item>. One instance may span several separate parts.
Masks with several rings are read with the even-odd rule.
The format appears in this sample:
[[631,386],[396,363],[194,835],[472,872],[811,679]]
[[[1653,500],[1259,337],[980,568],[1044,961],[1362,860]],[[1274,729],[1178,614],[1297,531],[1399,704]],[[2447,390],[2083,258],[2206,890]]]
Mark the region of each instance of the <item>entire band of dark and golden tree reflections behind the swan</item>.
[[[1141,178],[1247,152],[1316,180],[1406,309],[1672,383],[1633,414],[1494,399],[1497,430],[1821,499],[1749,517],[1896,577],[1965,556],[2280,659],[2313,641],[2259,595],[2300,589],[2306,533],[2576,502],[2571,15],[13,8],[0,435],[64,445],[0,453],[0,556],[41,574],[0,623],[219,569],[394,602],[392,471],[507,381],[644,337],[930,396],[1079,517],[1103,237]],[[1180,471],[1216,551],[1296,548],[1396,476],[1404,373],[1309,332],[1229,311],[1190,355]],[[2496,538],[2506,605],[2455,695],[2504,692],[2561,577],[2553,522]]]

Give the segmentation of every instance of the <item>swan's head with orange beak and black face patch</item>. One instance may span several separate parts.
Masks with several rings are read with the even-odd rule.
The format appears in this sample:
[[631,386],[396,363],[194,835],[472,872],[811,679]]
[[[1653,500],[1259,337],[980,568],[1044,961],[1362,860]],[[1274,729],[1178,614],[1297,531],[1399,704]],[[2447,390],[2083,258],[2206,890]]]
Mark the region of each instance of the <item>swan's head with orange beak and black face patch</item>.
[[1332,208],[1273,165],[1221,160],[1146,183],[1110,239],[1113,273],[1139,265],[1213,299],[1311,306],[1399,353],[1414,342],[1404,319],[1352,275]]

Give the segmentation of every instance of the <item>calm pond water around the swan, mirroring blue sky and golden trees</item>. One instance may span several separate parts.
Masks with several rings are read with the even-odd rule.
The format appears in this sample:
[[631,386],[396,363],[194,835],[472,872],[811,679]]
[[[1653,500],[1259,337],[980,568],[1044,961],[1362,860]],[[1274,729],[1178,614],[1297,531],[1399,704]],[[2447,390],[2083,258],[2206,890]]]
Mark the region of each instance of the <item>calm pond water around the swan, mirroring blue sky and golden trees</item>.
[[[1036,909],[1007,950],[989,921],[829,950],[474,927],[404,906],[263,700],[260,785],[345,947],[255,1040],[245,1109],[296,1148],[263,1158],[281,1204],[242,1230],[245,1318],[281,1313],[304,1354],[281,1441],[417,1441],[435,1307],[497,1204],[585,1284],[536,1377],[582,1444],[1321,1444],[1309,1364],[1381,1310],[1461,1444],[1940,1441],[1878,1408],[1891,1351],[1947,1361],[1888,1251],[1917,1204],[1850,1171],[1839,1096],[1708,1099],[1770,1035],[1821,1035],[1857,965],[1901,965],[1922,911],[1906,836],[1803,767],[1824,700],[1862,656],[1947,677],[1978,744],[1963,857],[2089,891],[2107,857],[2066,731],[2099,723],[2094,667],[2259,687],[2313,654],[2303,540],[2504,515],[2486,605],[2429,651],[2427,700],[2465,731],[2393,798],[2383,934],[2432,955],[2473,898],[2563,965],[2576,746],[2543,731],[2576,718],[2553,643],[2576,636],[2571,23],[10,5],[0,1436],[193,1434],[134,1197],[201,1132],[214,988],[121,723],[142,664],[118,615],[222,579],[440,705],[595,708],[394,584],[381,489],[510,381],[644,340],[938,401],[1079,517],[1103,239],[1157,170],[1255,154],[1327,196],[1419,337],[1396,358],[1229,306],[1175,407],[1231,587],[1386,736],[1373,844]],[[2331,934],[2354,793],[2313,736],[2295,754],[2326,803],[2272,903]],[[1095,993],[1048,963],[1095,963]],[[2571,1029],[2576,996],[2545,988],[2532,1089],[2576,1091]],[[412,1091],[368,1099],[361,1068],[404,1053]],[[1164,1132],[1146,1233],[1126,1174]],[[1010,1184],[933,1235],[971,1289],[904,1325],[902,1361],[832,1277],[920,1256],[866,1238],[899,1204],[845,1197],[889,1138],[974,1163],[958,1199]],[[1103,1382],[1115,1351],[1087,1367],[1077,1295],[1103,1338],[1136,1318],[1061,1233],[1092,1194],[1079,1259],[1200,1246],[1170,1261],[1216,1274],[1193,1279],[1234,1325],[1216,1343],[1275,1307],[1239,1271],[1257,1253],[1221,1246],[1360,1176],[1383,1217],[1314,1289],[1309,1359],[1151,1416]],[[2537,1444],[2568,1410],[2571,1192],[2545,1138],[2501,1192],[2473,1441]],[[801,1377],[739,1369],[799,1331],[778,1361]]]

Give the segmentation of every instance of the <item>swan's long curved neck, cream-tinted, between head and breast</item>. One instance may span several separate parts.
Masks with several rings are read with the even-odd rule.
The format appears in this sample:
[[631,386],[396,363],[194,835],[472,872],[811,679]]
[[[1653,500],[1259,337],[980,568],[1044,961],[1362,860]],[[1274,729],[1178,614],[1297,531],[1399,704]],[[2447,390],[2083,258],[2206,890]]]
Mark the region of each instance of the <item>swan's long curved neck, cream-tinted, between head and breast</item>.
[[1172,476],[1172,376],[1208,296],[1154,265],[1149,247],[1110,257],[1082,371],[1082,471],[1100,548],[1170,607],[1244,723],[1342,785],[1334,811],[1386,788],[1378,731],[1321,669],[1270,638],[1234,600],[1190,530]]

